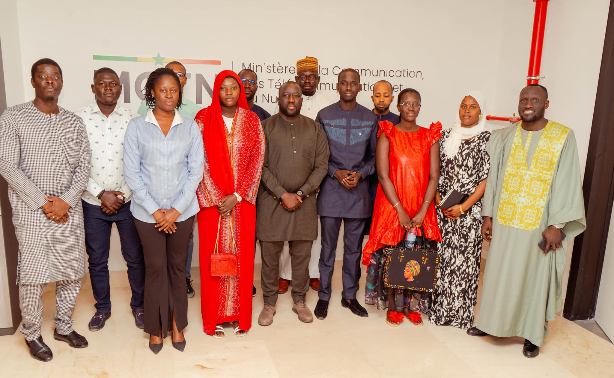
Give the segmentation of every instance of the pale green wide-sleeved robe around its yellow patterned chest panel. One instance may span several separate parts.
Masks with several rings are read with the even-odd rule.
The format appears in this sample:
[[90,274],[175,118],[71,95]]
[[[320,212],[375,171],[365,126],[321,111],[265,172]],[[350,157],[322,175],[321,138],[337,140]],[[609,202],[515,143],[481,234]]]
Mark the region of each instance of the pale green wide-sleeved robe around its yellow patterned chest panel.
[[[586,229],[584,201],[575,135],[570,130],[554,171],[540,226],[532,231],[503,226],[497,221],[503,176],[518,124],[492,132],[486,147],[491,170],[484,192],[483,216],[492,218],[480,312],[476,326],[493,336],[520,336],[541,346],[548,321],[561,310],[561,278],[567,242]],[[523,143],[527,133],[521,131]],[[533,159],[542,130],[534,132],[527,165]],[[563,226],[562,248],[544,254],[538,243],[549,226]]]

